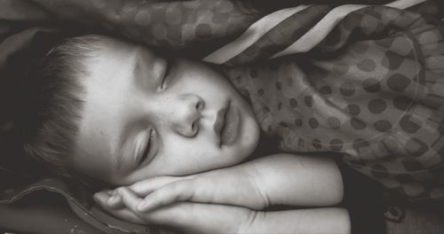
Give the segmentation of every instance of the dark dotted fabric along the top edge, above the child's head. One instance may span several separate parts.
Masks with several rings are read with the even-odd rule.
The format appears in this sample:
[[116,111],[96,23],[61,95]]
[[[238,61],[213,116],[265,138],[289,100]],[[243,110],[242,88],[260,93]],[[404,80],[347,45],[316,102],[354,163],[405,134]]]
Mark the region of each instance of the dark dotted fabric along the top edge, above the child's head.
[[60,20],[175,51],[202,43],[214,50],[264,14],[250,4],[230,0],[65,0],[44,6]]

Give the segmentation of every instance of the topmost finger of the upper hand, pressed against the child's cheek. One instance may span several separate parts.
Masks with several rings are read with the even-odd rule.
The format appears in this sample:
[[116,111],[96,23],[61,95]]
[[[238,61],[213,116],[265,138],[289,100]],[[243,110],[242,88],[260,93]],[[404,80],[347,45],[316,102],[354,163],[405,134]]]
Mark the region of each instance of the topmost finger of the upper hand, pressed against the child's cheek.
[[140,197],[146,197],[149,193],[158,190],[160,187],[168,183],[173,183],[179,180],[183,180],[186,177],[180,176],[157,176],[149,178],[138,183],[133,183],[130,189],[138,194]]

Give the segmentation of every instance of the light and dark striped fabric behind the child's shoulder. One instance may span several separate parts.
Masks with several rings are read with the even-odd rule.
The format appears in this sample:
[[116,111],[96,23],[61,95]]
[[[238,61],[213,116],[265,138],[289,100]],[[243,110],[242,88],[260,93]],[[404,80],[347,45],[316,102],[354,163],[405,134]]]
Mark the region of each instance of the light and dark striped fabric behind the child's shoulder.
[[[387,6],[407,9],[425,0],[396,0]],[[277,58],[313,49],[350,12],[367,5],[299,5],[264,16],[242,35],[203,58],[229,66],[258,59]],[[294,22],[301,22],[295,24]]]

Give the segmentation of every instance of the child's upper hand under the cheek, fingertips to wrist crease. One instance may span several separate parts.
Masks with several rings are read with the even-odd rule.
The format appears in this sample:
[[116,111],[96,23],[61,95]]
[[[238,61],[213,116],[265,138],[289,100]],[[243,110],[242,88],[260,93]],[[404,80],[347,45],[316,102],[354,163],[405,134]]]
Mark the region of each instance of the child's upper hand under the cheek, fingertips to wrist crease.
[[[129,186],[139,197],[140,212],[153,210],[178,201],[192,201],[248,207],[261,210],[269,206],[266,194],[255,182],[255,175],[242,165],[184,177],[159,176]],[[115,193],[109,207],[122,207]]]

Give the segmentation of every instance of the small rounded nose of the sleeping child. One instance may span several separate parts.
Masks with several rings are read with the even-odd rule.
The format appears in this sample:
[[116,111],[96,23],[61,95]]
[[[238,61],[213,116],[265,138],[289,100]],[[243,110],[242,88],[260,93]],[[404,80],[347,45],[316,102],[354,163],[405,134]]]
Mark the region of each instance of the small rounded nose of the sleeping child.
[[186,137],[195,136],[199,132],[199,120],[204,107],[202,98],[195,95],[181,95],[179,102],[171,116],[172,128],[178,134]]

